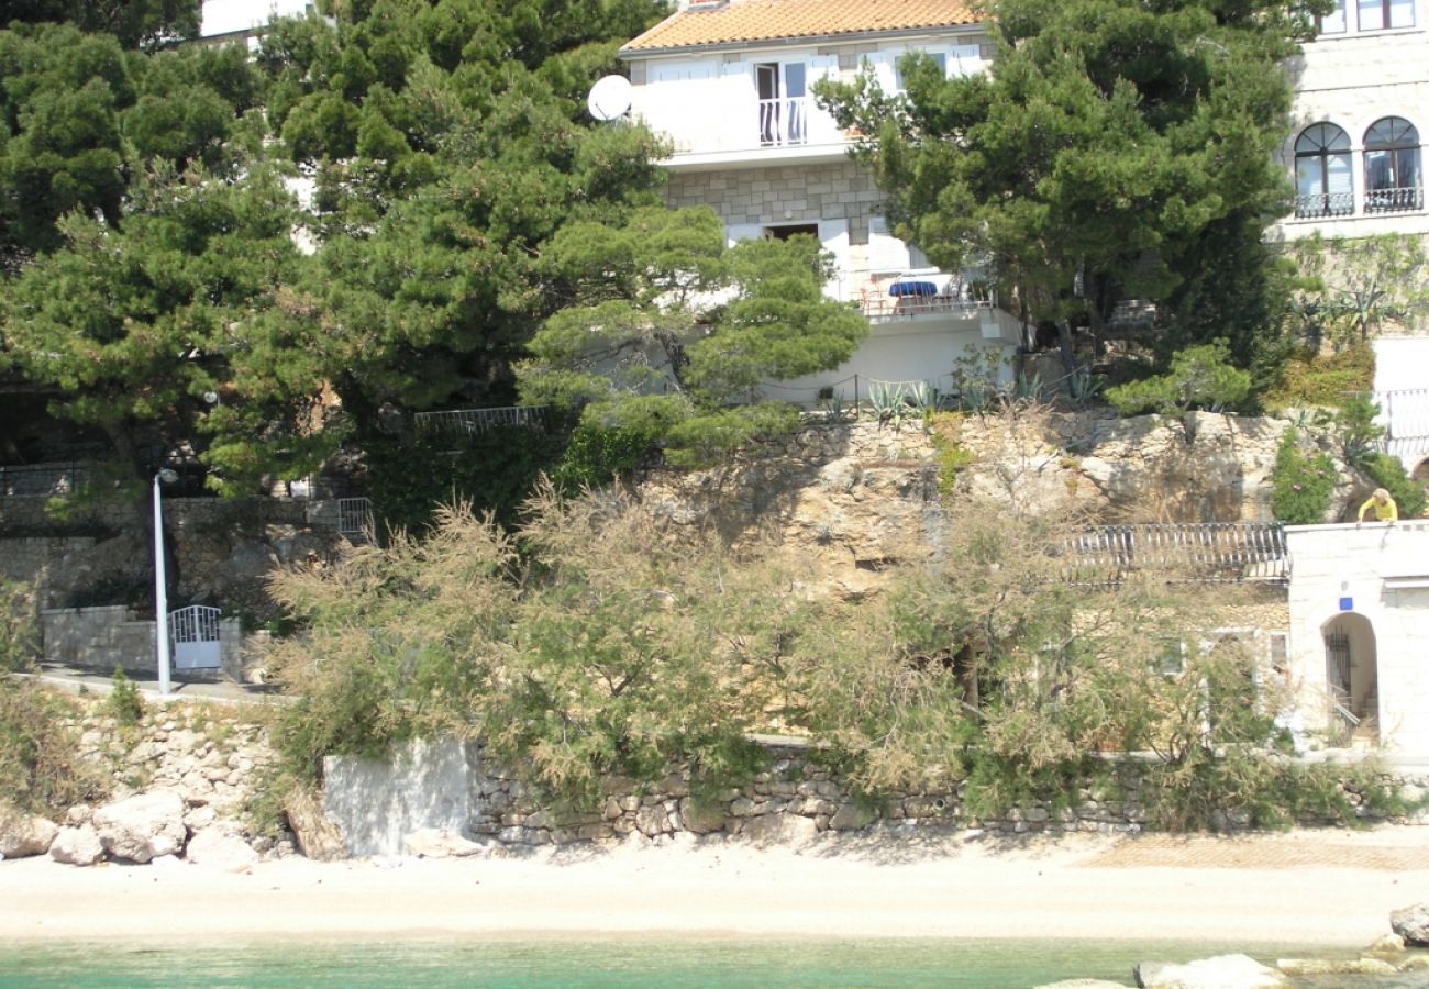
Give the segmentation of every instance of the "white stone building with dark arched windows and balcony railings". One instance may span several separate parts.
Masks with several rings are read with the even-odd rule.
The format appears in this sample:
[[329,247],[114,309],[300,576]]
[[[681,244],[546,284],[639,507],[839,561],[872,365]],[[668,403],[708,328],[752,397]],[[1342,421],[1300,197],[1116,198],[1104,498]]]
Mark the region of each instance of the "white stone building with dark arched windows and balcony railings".
[[1296,199],[1276,234],[1429,234],[1429,3],[1338,3],[1289,64],[1293,126],[1280,160]]

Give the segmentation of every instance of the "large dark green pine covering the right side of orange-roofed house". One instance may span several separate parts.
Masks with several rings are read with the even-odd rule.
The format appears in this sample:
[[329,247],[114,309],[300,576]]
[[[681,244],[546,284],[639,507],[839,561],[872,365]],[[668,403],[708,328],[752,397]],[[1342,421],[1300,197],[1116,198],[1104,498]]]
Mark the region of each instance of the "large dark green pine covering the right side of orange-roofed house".
[[[910,56],[906,96],[867,74],[817,91],[865,136],[899,236],[955,270],[990,262],[1026,320],[1063,327],[1069,372],[1069,322],[1100,333],[1123,299],[1156,302],[1173,346],[1228,337],[1249,366],[1275,309],[1260,233],[1286,197],[1280,63],[1310,13],[997,0],[987,73],[945,79]],[[1235,302],[1215,304],[1228,284]]]

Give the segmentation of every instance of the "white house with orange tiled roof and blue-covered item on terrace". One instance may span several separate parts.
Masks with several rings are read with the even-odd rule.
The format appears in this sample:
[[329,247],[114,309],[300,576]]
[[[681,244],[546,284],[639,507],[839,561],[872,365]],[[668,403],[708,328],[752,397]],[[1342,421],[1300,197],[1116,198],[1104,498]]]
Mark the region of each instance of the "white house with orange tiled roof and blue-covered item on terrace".
[[[925,51],[945,70],[980,71],[990,50],[962,0],[733,0],[692,3],[620,50],[632,111],[674,144],[667,202],[712,206],[730,243],[807,233],[833,254],[830,296],[856,303],[870,337],[847,364],[769,397],[810,404],[875,382],[950,384],[967,347],[1007,356],[1022,327],[976,272],[932,267],[890,236],[883,194],[855,164],[852,139],[810,86],[873,66],[887,90],[896,60]],[[1005,372],[1006,373],[1006,372]]]

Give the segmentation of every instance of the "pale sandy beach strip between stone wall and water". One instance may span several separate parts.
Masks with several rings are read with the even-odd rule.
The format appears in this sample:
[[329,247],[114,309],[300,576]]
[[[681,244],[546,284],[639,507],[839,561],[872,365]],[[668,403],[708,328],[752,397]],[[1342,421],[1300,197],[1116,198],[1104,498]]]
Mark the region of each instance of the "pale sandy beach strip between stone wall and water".
[[733,839],[523,858],[0,863],[11,940],[733,933],[1362,948],[1429,898],[1429,829],[1248,838]]

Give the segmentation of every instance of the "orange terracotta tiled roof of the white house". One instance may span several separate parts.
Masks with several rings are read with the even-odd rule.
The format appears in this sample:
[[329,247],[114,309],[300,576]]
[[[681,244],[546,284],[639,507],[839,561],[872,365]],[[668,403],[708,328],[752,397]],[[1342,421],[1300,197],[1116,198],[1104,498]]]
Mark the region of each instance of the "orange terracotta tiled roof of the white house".
[[965,0],[733,0],[666,17],[622,51],[976,24]]

